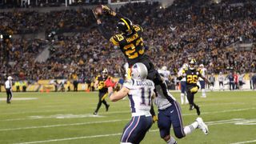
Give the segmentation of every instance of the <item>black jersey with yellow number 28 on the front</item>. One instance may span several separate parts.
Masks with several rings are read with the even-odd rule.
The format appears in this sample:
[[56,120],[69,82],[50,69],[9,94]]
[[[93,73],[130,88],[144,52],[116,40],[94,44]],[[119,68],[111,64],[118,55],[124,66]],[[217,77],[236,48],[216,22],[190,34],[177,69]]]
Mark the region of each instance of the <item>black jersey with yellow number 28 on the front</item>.
[[183,70],[186,75],[186,86],[197,86],[198,78],[202,76],[199,70]]

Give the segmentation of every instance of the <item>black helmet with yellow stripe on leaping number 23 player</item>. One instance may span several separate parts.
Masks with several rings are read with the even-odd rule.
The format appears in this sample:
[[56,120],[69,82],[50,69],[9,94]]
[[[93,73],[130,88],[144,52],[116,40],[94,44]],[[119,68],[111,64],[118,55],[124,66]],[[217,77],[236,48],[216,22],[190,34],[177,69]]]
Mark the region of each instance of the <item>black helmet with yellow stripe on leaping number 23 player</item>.
[[129,18],[120,18],[117,28],[124,34],[131,34],[133,31],[133,22]]

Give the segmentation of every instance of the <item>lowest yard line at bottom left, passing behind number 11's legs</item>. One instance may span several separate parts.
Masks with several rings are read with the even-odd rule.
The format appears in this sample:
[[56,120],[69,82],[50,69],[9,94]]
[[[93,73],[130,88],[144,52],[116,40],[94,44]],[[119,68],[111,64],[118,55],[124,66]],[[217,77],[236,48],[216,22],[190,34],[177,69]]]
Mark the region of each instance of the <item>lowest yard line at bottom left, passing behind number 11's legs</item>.
[[[158,131],[158,129],[150,130],[150,132],[155,132],[155,131]],[[117,136],[117,135],[121,135],[121,134],[122,134],[122,133],[116,133],[116,134],[100,134],[100,135],[91,135],[91,136],[84,136],[84,137],[50,139],[50,140],[45,140],[45,141],[21,142],[21,143],[14,143],[14,144],[33,144],[33,143],[44,143],[44,142],[60,142],[60,141],[68,141],[68,140],[74,140],[74,139],[110,137],[110,136]]]

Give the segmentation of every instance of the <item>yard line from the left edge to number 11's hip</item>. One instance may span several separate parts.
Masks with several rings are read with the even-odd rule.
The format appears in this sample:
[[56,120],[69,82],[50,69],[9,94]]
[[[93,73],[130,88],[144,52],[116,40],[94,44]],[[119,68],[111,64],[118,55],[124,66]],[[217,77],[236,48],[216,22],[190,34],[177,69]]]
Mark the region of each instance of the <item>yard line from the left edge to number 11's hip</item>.
[[58,126],[81,126],[81,125],[90,125],[90,124],[95,124],[95,123],[121,122],[123,120],[130,120],[130,119],[114,119],[114,120],[109,120],[109,121],[98,121],[98,122],[80,122],[80,123],[46,125],[46,126],[18,127],[18,128],[12,128],[12,129],[0,129],[0,131],[29,130],[29,129],[49,128],[49,127],[58,127]]

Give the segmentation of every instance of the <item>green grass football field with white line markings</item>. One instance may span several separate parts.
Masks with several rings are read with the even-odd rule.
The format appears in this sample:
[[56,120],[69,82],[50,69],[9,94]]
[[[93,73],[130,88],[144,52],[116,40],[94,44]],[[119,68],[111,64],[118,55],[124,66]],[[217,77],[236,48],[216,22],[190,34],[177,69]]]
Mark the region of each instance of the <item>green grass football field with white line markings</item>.
[[[180,102],[180,93],[172,93]],[[178,143],[222,144],[256,143],[256,91],[207,92],[207,98],[196,94],[201,117],[209,126],[205,135],[195,130]],[[119,143],[123,127],[130,121],[128,98],[102,105],[98,116],[93,112],[98,93],[14,93],[10,105],[0,93],[0,143]],[[195,110],[182,105],[184,125],[197,118]],[[156,109],[155,109],[156,110]],[[173,130],[171,134],[174,135]],[[142,144],[164,144],[155,123]]]

